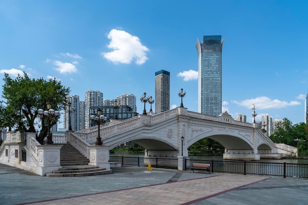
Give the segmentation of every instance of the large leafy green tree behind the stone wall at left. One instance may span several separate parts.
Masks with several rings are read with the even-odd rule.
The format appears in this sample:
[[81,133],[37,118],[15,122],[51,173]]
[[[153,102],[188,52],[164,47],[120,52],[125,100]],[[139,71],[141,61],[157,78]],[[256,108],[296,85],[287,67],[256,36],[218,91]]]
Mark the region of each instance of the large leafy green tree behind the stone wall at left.
[[[69,94],[69,88],[65,88],[55,78],[48,81],[43,78],[31,79],[25,72],[24,76],[18,75],[16,79],[4,74],[3,81],[2,97],[6,100],[5,126],[22,131],[35,132],[35,119],[39,116],[37,110],[46,110],[47,101],[52,103],[53,109],[61,110]],[[50,121],[49,126],[55,125],[57,120]],[[40,138],[47,133],[47,123],[43,117]]]

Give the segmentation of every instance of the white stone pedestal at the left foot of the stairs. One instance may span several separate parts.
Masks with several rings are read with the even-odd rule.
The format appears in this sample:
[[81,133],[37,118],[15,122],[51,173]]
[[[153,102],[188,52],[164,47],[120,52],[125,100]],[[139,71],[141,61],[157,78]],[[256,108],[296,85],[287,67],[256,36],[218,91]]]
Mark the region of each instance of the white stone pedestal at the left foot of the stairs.
[[60,150],[63,145],[38,145],[38,165],[36,174],[45,176],[46,173],[62,168],[60,165]]

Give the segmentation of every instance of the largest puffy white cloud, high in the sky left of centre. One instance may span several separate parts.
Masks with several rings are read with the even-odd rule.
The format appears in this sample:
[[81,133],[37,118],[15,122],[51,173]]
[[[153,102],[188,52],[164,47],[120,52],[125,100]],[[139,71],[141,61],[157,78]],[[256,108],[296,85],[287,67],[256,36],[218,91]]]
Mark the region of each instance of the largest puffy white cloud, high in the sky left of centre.
[[123,30],[112,29],[107,37],[111,39],[107,47],[114,51],[102,52],[101,55],[104,58],[114,63],[124,64],[129,64],[132,60],[135,60],[137,65],[141,65],[149,59],[146,56],[146,51],[149,51],[149,49],[141,44],[137,36]]

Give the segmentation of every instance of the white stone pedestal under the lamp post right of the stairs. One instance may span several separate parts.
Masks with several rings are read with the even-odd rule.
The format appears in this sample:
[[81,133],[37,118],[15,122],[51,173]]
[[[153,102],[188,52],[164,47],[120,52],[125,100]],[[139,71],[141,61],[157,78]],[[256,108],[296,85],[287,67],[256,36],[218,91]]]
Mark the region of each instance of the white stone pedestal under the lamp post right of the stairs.
[[110,169],[108,147],[91,146],[89,147],[89,153],[90,153],[89,165],[105,167],[106,169]]

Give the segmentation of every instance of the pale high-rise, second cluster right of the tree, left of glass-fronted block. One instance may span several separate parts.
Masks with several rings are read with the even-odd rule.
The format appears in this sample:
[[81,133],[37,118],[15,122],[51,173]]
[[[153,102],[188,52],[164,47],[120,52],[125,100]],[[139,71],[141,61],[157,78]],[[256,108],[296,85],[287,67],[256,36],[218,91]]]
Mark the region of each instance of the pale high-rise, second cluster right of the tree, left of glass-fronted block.
[[85,94],[85,128],[91,126],[91,113],[90,107],[103,105],[103,94],[97,90],[88,90]]

